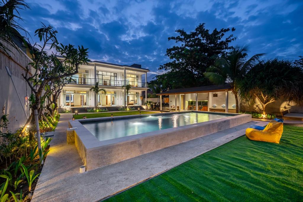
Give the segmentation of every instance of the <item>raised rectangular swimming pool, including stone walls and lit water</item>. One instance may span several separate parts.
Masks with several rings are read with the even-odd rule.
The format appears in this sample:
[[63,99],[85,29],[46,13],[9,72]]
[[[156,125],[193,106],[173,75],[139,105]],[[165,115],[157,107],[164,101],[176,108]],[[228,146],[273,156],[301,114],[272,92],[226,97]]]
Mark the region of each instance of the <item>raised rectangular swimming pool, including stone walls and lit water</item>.
[[251,114],[168,112],[68,121],[86,170],[93,170],[251,121]]

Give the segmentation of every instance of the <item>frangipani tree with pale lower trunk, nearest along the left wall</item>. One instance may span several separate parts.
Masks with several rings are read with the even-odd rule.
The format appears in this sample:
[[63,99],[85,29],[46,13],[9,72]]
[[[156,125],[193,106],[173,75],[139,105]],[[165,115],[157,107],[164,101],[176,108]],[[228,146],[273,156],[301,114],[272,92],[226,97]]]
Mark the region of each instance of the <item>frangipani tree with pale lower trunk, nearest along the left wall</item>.
[[[31,88],[34,99],[31,108],[34,112],[39,149],[41,149],[41,142],[38,115],[41,110],[41,102],[45,98],[42,95],[45,87],[49,83],[59,81],[61,78],[77,74],[79,66],[87,64],[89,61],[87,48],[83,48],[83,46],[75,48],[70,44],[59,44],[56,34],[57,31],[52,26],[43,24],[42,28],[35,31],[35,36],[40,41],[39,44],[30,45],[29,42],[24,41],[31,54],[32,62],[26,66],[25,73],[22,76]],[[47,50],[55,51],[55,53],[48,53]]]

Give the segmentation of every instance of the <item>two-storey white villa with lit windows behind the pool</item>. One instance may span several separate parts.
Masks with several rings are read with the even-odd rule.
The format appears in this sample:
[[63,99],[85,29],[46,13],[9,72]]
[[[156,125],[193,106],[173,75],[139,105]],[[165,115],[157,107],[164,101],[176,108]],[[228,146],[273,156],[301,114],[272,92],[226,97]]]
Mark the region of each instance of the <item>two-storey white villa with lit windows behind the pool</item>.
[[[116,65],[107,62],[91,61],[88,65],[81,65],[79,73],[73,75],[72,82],[66,84],[59,96],[60,108],[88,108],[94,107],[95,101],[99,107],[142,105],[142,91],[148,87],[142,82],[147,79],[148,69],[141,65]],[[106,89],[95,98],[95,93],[89,88],[99,83],[99,88]],[[131,84],[132,88],[127,96],[122,88]],[[147,93],[145,92],[145,96]],[[144,104],[144,103],[143,103]]]

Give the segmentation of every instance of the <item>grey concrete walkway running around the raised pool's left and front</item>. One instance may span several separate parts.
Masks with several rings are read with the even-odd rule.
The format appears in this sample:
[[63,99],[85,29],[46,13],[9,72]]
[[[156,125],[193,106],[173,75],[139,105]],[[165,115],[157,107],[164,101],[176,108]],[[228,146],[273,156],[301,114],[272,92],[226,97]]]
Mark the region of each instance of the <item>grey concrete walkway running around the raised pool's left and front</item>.
[[240,137],[249,125],[257,122],[80,174],[82,161],[75,145],[66,144],[66,128],[71,118],[72,114],[61,114],[32,202],[100,200]]

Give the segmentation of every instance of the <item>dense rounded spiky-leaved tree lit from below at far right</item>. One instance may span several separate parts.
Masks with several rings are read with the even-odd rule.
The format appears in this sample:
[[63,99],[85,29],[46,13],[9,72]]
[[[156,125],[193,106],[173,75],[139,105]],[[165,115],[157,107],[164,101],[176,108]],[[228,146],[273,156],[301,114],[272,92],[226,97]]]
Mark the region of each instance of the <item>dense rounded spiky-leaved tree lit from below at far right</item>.
[[303,69],[291,61],[260,61],[239,82],[240,97],[246,103],[258,100],[266,114],[266,106],[277,100],[303,103]]

